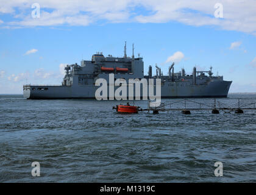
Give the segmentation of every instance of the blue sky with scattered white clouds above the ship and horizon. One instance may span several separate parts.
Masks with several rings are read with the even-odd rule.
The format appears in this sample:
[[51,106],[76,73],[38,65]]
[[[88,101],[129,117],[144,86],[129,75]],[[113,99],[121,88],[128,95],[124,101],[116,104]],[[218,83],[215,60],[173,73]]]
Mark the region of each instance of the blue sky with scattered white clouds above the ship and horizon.
[[179,7],[178,1],[109,0],[99,1],[101,9],[75,2],[78,7],[38,1],[40,18],[30,15],[32,1],[0,3],[0,93],[22,93],[27,82],[60,84],[64,65],[90,60],[97,51],[121,57],[124,41],[127,55],[135,44],[144,73],[157,63],[167,74],[172,61],[187,73],[213,66],[214,74],[233,80],[230,92],[256,93],[255,1],[238,15],[232,14],[240,1],[222,1],[223,18],[215,18],[216,2],[207,1]]

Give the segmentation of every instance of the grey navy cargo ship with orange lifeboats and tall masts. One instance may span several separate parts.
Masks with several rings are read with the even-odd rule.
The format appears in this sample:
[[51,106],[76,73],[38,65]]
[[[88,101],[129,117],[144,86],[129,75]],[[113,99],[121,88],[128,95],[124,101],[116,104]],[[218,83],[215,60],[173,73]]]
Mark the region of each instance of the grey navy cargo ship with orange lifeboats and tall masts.
[[23,85],[23,94],[27,99],[95,98],[99,88],[95,86],[96,80],[102,78],[109,82],[110,73],[115,80],[125,79],[127,83],[129,79],[161,79],[161,98],[226,98],[232,83],[222,76],[213,76],[212,67],[209,71],[197,71],[194,67],[193,74],[187,75],[185,69],[174,73],[172,63],[167,76],[157,65],[155,68],[156,74],[152,76],[149,65],[148,75],[144,76],[143,58],[140,55],[135,58],[133,49],[132,57],[127,57],[125,45],[124,57],[97,52],[91,60],[82,60],[80,65],[66,65],[62,85]]

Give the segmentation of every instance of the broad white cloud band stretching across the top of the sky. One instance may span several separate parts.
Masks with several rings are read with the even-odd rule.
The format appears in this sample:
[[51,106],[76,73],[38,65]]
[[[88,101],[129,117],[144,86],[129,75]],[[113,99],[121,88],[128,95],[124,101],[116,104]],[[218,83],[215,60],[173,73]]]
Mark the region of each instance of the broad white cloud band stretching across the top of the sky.
[[[217,26],[256,35],[254,0],[221,0],[224,18],[215,18],[216,1],[207,0],[38,0],[40,18],[32,18],[32,1],[0,2],[0,13],[11,13],[13,21],[7,26],[86,26],[97,21],[166,23],[177,21],[191,26]],[[138,9],[137,9],[138,8]],[[46,12],[45,9],[52,10]],[[19,10],[23,10],[21,14]],[[141,10],[143,10],[141,12]],[[28,12],[26,12],[28,11]]]

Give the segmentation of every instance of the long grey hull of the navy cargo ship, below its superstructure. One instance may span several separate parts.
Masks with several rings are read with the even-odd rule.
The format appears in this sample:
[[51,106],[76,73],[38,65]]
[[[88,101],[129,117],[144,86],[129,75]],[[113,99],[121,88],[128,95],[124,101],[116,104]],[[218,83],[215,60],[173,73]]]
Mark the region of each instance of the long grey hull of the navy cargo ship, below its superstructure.
[[[226,98],[231,83],[232,81],[224,80],[209,82],[207,85],[166,82],[161,87],[161,98]],[[94,99],[97,88],[94,85],[79,85],[76,87],[24,85],[23,94],[24,98],[27,99]],[[127,96],[128,94],[129,90],[127,88]],[[135,91],[133,91],[133,94],[135,94]],[[140,94],[142,98],[142,88]]]

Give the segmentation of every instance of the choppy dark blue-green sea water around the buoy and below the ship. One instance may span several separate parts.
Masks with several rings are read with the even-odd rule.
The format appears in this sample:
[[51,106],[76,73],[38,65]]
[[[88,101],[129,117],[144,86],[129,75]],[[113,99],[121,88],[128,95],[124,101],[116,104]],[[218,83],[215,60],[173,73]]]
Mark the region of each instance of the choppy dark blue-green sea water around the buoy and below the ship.
[[256,110],[122,115],[118,103],[1,95],[0,182],[256,182]]

